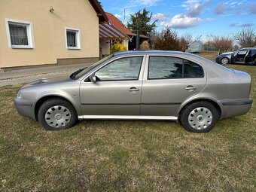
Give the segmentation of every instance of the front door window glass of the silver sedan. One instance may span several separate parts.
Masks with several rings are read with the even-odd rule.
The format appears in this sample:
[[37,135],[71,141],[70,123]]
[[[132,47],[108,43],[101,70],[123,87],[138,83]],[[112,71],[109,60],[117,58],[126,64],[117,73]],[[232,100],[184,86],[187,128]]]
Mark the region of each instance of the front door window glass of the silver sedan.
[[133,81],[139,79],[143,56],[114,60],[99,69],[95,75],[98,81]]

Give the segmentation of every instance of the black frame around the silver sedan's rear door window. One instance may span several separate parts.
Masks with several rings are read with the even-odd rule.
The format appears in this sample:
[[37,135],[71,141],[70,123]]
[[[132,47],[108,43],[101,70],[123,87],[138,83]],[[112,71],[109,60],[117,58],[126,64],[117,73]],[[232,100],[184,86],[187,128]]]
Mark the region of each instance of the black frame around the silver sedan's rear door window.
[[[150,58],[154,57],[154,56],[161,56],[161,57],[172,57],[172,58],[177,58],[177,59],[181,59],[182,60],[182,72],[181,72],[181,78],[149,78],[149,63],[150,63]],[[162,56],[162,55],[150,55],[148,56],[148,74],[147,74],[147,80],[148,81],[151,81],[151,80],[172,80],[172,79],[187,79],[187,78],[190,78],[190,77],[184,77],[184,60],[187,60],[189,62],[193,62],[195,65],[197,66],[200,66],[200,68],[203,70],[203,76],[200,77],[200,78],[205,78],[205,71],[203,69],[203,66],[201,66],[200,64],[198,64],[197,62],[194,62],[194,61],[191,61],[189,59],[184,59],[184,58],[181,58],[181,57],[178,57],[178,56]],[[199,78],[199,77],[197,77]]]

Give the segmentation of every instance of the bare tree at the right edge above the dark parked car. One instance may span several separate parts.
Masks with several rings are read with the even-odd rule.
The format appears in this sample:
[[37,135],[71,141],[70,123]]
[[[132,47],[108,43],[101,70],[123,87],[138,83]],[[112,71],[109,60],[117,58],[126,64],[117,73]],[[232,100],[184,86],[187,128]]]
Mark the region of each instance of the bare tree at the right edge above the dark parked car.
[[256,46],[256,32],[252,27],[244,27],[233,38],[240,44],[241,47]]

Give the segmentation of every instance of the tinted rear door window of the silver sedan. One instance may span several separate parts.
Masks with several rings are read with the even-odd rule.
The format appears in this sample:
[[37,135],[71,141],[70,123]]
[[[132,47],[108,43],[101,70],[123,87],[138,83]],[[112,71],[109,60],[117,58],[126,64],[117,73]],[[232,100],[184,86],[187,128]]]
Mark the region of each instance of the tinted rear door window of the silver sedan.
[[187,59],[150,56],[148,79],[203,78],[203,68]]

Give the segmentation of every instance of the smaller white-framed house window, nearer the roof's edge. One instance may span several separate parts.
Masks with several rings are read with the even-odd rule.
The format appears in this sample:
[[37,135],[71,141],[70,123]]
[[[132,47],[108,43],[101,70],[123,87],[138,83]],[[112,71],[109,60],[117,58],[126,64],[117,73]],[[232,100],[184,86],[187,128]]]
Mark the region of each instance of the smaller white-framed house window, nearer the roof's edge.
[[66,28],[67,49],[81,49],[81,37],[79,29]]

